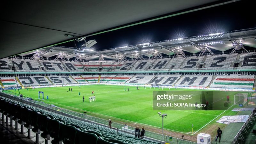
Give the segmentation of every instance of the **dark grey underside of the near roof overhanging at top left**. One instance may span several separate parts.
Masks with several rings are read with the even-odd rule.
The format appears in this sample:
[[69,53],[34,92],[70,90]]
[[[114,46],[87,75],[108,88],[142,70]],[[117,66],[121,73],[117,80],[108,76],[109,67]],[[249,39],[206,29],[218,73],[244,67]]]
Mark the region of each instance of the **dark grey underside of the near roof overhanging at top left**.
[[235,1],[4,1],[0,58],[71,40],[65,34],[88,36]]

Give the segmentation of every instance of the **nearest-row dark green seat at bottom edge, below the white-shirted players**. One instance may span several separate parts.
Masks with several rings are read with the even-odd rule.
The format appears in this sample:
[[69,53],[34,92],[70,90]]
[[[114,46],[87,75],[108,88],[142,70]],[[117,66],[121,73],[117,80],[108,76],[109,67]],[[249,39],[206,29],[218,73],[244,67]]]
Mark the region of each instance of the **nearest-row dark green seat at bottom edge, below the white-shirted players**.
[[76,144],[97,144],[98,137],[94,133],[82,132],[80,130],[76,130]]

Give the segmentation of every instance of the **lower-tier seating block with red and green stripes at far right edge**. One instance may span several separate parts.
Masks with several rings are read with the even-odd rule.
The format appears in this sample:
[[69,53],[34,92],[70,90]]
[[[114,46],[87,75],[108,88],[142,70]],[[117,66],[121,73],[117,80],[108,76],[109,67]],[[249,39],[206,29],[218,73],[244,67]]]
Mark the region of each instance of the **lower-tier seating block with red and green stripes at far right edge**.
[[254,76],[230,75],[230,76],[217,76],[210,87],[252,89],[253,84],[254,84]]

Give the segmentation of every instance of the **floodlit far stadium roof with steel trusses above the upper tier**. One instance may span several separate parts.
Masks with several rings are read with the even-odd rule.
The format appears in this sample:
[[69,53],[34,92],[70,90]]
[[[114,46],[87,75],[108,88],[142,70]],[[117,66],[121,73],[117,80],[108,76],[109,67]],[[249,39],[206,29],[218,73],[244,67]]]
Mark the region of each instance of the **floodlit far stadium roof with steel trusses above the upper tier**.
[[136,55],[153,57],[161,53],[166,55],[173,55],[175,53],[182,54],[184,51],[189,53],[197,53],[204,51],[204,48],[209,48],[210,51],[211,49],[215,49],[224,52],[229,49],[234,49],[234,47],[236,47],[234,42],[241,44],[241,47],[245,45],[256,48],[255,38],[256,28],[250,28],[230,32],[219,32],[215,34],[203,34],[201,36],[192,36],[173,40],[164,40],[147,44],[110,48],[101,51],[92,51],[92,49],[83,49],[82,51],[77,51],[76,48],[73,47],[54,46],[23,53],[20,54],[20,56],[42,52],[42,56],[46,58],[58,55],[59,58],[66,59],[81,57],[81,59],[84,60],[95,60],[103,57],[112,60],[120,60],[126,59],[126,57],[134,58]]

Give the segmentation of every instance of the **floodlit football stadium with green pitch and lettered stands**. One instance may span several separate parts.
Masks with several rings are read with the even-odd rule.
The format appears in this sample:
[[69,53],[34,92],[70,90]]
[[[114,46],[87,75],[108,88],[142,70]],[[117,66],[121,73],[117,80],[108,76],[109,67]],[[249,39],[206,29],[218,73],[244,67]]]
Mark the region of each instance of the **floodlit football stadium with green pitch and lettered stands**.
[[[242,2],[209,1],[193,10],[236,3]],[[3,23],[12,27],[10,21]],[[132,25],[137,23],[119,28]],[[38,38],[19,50],[15,45],[22,42],[10,40],[13,52],[1,42],[0,125],[2,133],[9,132],[4,138],[37,144],[209,144],[220,127],[221,143],[255,142],[256,28],[103,49],[95,46],[101,32],[63,32],[58,35],[66,39],[56,36],[40,46],[45,39]],[[136,126],[141,134],[145,129],[144,136],[136,138]],[[15,139],[4,143],[19,143]]]

